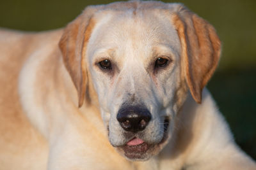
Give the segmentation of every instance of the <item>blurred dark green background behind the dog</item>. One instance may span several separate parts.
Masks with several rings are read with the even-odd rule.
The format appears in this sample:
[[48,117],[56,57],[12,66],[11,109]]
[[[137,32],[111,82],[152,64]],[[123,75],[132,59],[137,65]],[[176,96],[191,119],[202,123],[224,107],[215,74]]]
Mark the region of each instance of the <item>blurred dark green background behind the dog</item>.
[[[64,27],[97,0],[1,0],[0,27],[43,31]],[[174,1],[165,1],[173,3]],[[223,43],[207,85],[241,148],[256,159],[256,1],[180,0],[216,28]]]

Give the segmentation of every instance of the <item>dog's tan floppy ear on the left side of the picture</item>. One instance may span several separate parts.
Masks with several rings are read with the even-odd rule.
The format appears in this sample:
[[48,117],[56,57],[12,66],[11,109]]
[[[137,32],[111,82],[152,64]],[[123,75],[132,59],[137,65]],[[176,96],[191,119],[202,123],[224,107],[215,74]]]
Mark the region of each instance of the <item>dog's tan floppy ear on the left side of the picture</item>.
[[86,93],[88,76],[86,73],[85,55],[86,45],[95,25],[92,16],[101,7],[87,7],[76,20],[67,25],[59,42],[65,67],[77,89],[79,107],[83,105],[84,97],[88,94]]

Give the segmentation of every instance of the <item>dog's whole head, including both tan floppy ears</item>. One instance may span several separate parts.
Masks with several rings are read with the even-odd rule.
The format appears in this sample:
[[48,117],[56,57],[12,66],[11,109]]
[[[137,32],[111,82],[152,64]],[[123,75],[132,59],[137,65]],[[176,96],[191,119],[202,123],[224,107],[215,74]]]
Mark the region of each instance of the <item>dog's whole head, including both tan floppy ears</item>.
[[79,106],[97,93],[109,141],[147,160],[172,138],[188,89],[197,103],[216,69],[214,28],[182,4],[130,1],[90,6],[60,41]]

